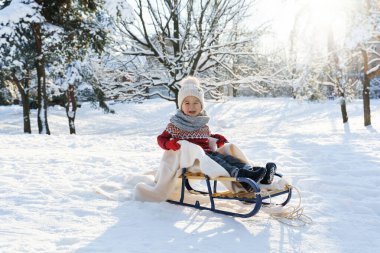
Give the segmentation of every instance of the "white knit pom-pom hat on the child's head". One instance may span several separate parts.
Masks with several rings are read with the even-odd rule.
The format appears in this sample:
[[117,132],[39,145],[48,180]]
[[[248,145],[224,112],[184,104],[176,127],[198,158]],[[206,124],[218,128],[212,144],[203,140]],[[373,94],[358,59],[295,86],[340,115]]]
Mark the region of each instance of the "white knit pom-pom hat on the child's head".
[[181,109],[182,102],[185,97],[193,96],[201,101],[202,109],[204,109],[205,98],[199,80],[193,76],[188,76],[179,83],[181,88],[178,91],[178,108]]

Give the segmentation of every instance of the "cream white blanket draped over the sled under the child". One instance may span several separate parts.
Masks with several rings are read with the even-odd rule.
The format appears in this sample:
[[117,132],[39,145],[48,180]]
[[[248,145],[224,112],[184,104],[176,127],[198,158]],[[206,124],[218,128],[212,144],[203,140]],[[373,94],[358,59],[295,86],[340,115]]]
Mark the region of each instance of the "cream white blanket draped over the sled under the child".
[[[182,168],[187,168],[191,172],[203,172],[210,177],[229,176],[228,172],[209,158],[200,146],[184,140],[178,141],[178,143],[181,144],[179,150],[164,152],[156,173],[155,184],[138,183],[136,185],[134,193],[136,200],[161,202],[169,199],[175,190],[177,177],[181,175]],[[226,143],[217,151],[250,163],[244,153],[233,144]],[[225,186],[231,191],[242,189],[233,183],[227,183]]]

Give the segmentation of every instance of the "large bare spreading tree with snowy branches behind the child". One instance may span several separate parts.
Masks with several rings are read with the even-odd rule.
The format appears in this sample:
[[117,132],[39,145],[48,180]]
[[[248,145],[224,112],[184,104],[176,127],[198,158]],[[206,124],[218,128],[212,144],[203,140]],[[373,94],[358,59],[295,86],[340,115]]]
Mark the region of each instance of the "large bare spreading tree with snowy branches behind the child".
[[[118,6],[116,25],[121,36],[113,46],[117,50],[113,56],[118,54],[122,59],[119,65],[126,66],[122,75],[130,77],[126,78],[125,92],[176,100],[177,84],[187,75],[207,80],[207,90],[250,82],[247,77],[257,73],[247,71],[240,76],[236,65],[237,57],[253,55],[249,46],[261,34],[238,34],[249,3],[136,0],[130,7]],[[125,15],[126,8],[134,10],[133,16]]]

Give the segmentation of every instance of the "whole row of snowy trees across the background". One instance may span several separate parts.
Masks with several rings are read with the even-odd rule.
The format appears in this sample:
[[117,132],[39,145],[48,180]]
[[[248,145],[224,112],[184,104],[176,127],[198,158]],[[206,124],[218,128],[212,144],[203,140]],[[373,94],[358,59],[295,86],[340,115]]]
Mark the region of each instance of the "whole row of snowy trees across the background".
[[[36,100],[38,131],[50,134],[51,94],[66,107],[75,133],[77,97],[112,112],[107,99],[140,101],[159,96],[176,101],[187,75],[203,80],[206,94],[221,99],[226,89],[255,94],[305,96],[329,87],[340,98],[343,122],[353,86],[362,86],[364,124],[370,125],[370,82],[376,69],[377,1],[366,0],[354,27],[374,31],[354,47],[339,47],[331,34],[328,57],[308,63],[288,53],[263,52],[265,23],[247,24],[255,1],[101,0],[0,1],[0,85],[17,87],[24,132],[31,133],[30,100]],[[18,15],[9,15],[13,10]],[[361,23],[360,23],[361,22]],[[294,23],[293,39],[297,36]],[[352,62],[361,66],[352,76]],[[1,88],[1,87],[0,87]],[[34,92],[34,93],[33,93]],[[33,94],[32,94],[33,93]],[[311,95],[310,95],[311,94]]]

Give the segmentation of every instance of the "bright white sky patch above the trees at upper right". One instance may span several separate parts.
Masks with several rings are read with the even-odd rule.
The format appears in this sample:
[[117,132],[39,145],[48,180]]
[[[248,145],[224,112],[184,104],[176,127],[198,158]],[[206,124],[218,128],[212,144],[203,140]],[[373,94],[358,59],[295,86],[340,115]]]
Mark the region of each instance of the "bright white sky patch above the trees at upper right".
[[288,51],[295,31],[295,48],[307,59],[310,51],[326,53],[330,30],[338,45],[348,43],[346,37],[352,35],[348,26],[360,6],[357,0],[258,0],[251,10],[251,19],[271,26],[263,39],[265,50]]

